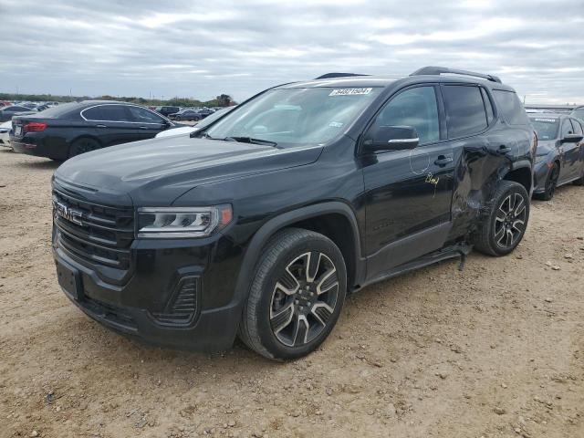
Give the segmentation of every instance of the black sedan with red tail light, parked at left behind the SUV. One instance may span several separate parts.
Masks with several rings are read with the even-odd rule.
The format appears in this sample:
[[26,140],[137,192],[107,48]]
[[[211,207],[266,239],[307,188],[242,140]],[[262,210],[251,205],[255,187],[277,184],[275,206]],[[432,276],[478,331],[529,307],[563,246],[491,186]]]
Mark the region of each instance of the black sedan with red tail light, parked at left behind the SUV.
[[147,108],[107,100],[85,100],[15,116],[10,143],[15,151],[64,161],[114,144],[151,139],[174,128]]

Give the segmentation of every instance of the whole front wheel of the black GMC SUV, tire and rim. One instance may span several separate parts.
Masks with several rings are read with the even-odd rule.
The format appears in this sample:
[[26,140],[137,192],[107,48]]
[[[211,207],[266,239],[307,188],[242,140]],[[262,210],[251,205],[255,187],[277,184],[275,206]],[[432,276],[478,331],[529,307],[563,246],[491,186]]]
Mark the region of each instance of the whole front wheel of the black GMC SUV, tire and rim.
[[[307,272],[302,266],[312,268]],[[328,337],[346,293],[347,269],[337,245],[312,231],[283,230],[269,241],[255,266],[239,338],[268,359],[305,356]]]

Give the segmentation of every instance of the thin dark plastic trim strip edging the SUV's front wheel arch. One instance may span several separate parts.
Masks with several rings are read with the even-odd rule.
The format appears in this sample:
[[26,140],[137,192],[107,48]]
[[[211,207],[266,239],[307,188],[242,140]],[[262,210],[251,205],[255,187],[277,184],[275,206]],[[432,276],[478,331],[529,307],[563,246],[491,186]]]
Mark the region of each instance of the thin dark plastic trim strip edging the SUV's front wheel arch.
[[339,201],[317,203],[280,214],[267,221],[266,224],[263,224],[259,230],[257,230],[245,250],[244,261],[239,270],[239,276],[237,277],[237,283],[235,285],[235,295],[232,302],[235,301],[243,304],[249,292],[257,260],[261,255],[262,249],[272,235],[276,234],[277,231],[285,228],[289,224],[294,224],[298,221],[322,214],[342,214],[349,219],[349,224],[351,225],[353,234],[353,242],[355,243],[355,281],[359,284],[360,280],[365,278],[366,262],[361,253],[359,226],[353,210],[346,203],[341,203]]

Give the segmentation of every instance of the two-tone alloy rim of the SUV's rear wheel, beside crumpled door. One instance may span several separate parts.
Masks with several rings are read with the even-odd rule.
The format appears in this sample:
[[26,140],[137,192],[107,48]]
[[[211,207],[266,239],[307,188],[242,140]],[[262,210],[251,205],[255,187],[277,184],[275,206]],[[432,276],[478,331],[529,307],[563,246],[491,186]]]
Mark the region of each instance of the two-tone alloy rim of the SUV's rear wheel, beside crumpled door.
[[527,205],[519,193],[510,193],[495,215],[495,242],[502,248],[516,244],[526,229]]

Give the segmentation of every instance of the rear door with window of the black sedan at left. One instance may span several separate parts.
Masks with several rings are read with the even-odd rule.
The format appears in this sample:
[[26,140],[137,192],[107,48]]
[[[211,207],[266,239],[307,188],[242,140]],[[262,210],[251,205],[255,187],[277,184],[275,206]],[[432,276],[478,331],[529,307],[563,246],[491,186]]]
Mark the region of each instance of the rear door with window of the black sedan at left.
[[92,124],[103,146],[140,140],[136,124],[130,121],[125,105],[102,104],[81,111],[81,117]]

